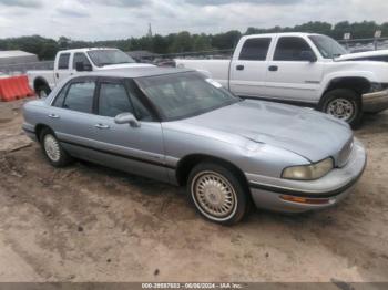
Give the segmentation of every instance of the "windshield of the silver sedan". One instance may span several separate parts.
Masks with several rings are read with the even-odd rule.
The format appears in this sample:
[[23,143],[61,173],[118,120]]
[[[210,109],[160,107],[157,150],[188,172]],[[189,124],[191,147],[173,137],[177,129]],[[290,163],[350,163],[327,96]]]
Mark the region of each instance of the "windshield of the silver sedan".
[[217,82],[187,72],[136,80],[164,121],[181,120],[239,101]]

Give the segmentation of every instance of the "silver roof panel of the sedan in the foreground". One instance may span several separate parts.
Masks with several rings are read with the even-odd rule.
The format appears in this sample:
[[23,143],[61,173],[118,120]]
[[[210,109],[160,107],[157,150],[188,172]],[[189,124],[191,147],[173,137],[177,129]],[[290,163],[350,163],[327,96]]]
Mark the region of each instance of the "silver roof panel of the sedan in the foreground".
[[195,72],[195,70],[190,69],[176,69],[176,68],[157,68],[157,66],[144,66],[144,68],[127,68],[127,69],[116,69],[100,72],[88,72],[75,75],[73,79],[80,76],[100,76],[100,77],[121,77],[121,79],[135,79],[145,76],[156,76],[164,74],[175,74]]

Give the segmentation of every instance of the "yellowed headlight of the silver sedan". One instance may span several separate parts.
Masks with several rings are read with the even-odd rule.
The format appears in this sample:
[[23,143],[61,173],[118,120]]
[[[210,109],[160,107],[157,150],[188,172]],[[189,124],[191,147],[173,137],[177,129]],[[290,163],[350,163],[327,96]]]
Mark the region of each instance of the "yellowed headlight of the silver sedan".
[[314,180],[318,179],[334,168],[331,158],[310,165],[300,165],[285,168],[282,177],[287,179]]

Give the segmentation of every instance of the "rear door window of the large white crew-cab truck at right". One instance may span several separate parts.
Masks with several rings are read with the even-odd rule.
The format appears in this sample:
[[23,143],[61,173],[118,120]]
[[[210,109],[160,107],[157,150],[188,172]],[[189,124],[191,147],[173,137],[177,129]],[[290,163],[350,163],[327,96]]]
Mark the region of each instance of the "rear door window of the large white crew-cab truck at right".
[[246,40],[238,59],[241,61],[265,61],[270,40],[270,38]]

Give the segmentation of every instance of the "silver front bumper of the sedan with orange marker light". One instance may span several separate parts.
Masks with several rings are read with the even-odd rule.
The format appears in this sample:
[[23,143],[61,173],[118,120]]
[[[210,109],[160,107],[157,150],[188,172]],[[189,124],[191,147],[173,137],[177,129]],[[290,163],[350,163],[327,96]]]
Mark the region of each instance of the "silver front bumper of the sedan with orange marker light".
[[[355,139],[348,163],[317,180],[289,180],[253,174],[246,174],[246,177],[249,180],[251,194],[256,207],[284,213],[302,213],[338,204],[351,193],[365,166],[365,148]],[[297,201],[290,201],[290,199]]]

